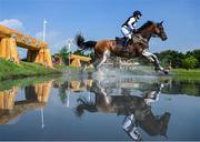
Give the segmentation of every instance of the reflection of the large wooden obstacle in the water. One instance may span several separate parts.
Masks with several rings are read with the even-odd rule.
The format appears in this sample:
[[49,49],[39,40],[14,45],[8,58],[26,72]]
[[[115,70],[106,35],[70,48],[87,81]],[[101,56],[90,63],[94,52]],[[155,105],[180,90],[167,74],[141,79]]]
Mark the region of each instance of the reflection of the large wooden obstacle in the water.
[[0,124],[9,123],[28,111],[41,109],[48,102],[52,81],[24,88],[24,100],[16,101],[18,87],[0,91]]

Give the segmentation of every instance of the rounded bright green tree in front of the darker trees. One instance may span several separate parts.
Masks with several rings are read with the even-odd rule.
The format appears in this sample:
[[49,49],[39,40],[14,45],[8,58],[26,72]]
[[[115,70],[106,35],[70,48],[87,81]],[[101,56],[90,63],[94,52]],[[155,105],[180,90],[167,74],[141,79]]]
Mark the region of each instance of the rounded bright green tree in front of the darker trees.
[[193,55],[190,55],[186,59],[183,59],[182,61],[182,67],[184,69],[194,69],[198,64],[198,60],[193,57]]

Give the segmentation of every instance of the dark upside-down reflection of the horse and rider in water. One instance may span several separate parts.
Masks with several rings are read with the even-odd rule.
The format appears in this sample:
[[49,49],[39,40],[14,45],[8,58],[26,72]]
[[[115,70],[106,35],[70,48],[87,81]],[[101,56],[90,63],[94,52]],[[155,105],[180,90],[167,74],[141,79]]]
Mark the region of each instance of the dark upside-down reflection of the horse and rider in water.
[[146,91],[141,97],[130,95],[129,89],[122,89],[122,95],[108,95],[100,83],[93,82],[90,91],[96,94],[96,102],[78,99],[80,104],[76,108],[76,114],[81,116],[87,110],[126,115],[122,128],[133,140],[141,140],[139,126],[150,135],[166,136],[170,113],[157,116],[151,111],[151,103],[159,100],[162,88],[162,83],[156,83],[152,90]]

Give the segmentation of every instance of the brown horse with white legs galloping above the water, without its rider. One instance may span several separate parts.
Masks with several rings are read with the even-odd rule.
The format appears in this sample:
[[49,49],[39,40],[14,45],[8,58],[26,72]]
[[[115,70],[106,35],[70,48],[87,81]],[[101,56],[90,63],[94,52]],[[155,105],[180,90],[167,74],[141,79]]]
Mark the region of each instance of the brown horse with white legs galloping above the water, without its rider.
[[[94,50],[94,58],[89,63],[84,64],[83,70],[86,70],[87,65],[91,63],[93,63],[96,70],[98,70],[110,55],[128,59],[144,57],[150,62],[153,62],[156,71],[163,71],[167,74],[168,71],[160,65],[158,58],[147,51],[149,49],[149,40],[151,37],[159,37],[162,41],[167,40],[167,34],[164,32],[162,22],[163,21],[154,23],[152,21],[147,21],[141,28],[139,28],[136,34],[132,36],[131,43],[128,45],[129,51],[124,51],[122,48],[120,48],[120,44],[116,40],[84,42],[84,38],[81,34],[78,34],[74,41],[81,50]],[[100,62],[96,64],[98,61],[97,59],[99,59]]]

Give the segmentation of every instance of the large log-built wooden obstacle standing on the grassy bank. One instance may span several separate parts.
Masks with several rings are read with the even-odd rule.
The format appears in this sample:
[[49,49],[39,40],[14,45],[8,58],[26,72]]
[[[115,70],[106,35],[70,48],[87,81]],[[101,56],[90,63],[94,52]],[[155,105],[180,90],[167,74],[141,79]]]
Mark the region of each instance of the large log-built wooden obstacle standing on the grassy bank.
[[0,58],[20,63],[17,47],[28,49],[27,60],[52,68],[50,50],[46,42],[38,41],[17,30],[0,26]]

